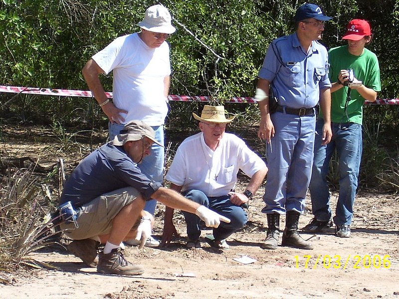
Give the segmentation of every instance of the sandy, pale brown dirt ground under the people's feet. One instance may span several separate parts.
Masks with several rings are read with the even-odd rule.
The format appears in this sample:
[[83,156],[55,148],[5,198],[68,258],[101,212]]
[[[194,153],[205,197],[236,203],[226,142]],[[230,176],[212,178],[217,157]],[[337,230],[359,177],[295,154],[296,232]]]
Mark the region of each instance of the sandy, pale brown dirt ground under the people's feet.
[[[3,134],[7,134],[4,128]],[[49,149],[54,150],[51,143],[41,142],[44,148],[35,148],[41,131],[26,134],[18,132],[18,141],[1,144],[2,154],[39,157],[43,166],[54,163],[55,160],[48,161]],[[32,142],[22,143],[21,139]],[[72,165],[87,152],[87,148],[78,148],[80,154],[76,155],[63,154],[55,148],[56,156]],[[236,189],[245,186],[246,181],[242,180]],[[227,239],[228,250],[209,247],[203,237],[210,230],[202,232],[202,248],[186,249],[186,226],[182,215],[175,212],[180,237],[168,248],[125,250],[129,261],[145,267],[144,275],[97,274],[56,246],[30,256],[54,270],[36,270],[32,276],[2,273],[11,285],[0,285],[0,299],[399,298],[399,195],[361,191],[355,203],[351,238],[336,237],[334,229],[317,236],[303,233],[305,239],[311,238],[314,250],[279,246],[269,251],[260,248],[266,235],[266,217],[260,212],[262,193],[263,188],[254,196],[244,229]],[[333,205],[336,195],[332,197]],[[310,208],[308,198],[300,227],[312,219]],[[159,205],[154,232],[158,238],[162,235],[163,214],[164,207]],[[284,227],[284,217],[280,225]],[[61,240],[63,245],[68,242]],[[243,256],[251,257],[254,263],[233,260]]]

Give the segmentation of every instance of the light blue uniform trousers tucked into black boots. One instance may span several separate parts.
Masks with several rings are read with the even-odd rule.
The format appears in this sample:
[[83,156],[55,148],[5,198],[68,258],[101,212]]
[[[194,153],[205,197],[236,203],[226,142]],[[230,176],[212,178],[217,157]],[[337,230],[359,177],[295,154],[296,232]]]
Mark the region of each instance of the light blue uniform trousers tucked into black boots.
[[266,144],[267,180],[263,213],[303,213],[308,190],[315,138],[315,115],[271,115],[275,135]]

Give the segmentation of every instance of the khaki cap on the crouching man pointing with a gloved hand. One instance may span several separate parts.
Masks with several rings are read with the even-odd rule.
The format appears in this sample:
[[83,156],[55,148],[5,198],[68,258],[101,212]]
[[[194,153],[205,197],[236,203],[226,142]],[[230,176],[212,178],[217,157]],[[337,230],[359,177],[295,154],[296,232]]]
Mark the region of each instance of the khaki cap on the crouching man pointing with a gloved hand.
[[131,121],[127,123],[123,130],[115,136],[114,140],[109,143],[114,146],[123,146],[128,141],[141,140],[143,137],[147,137],[155,142],[157,145],[164,147],[155,139],[155,132],[149,125],[142,121]]

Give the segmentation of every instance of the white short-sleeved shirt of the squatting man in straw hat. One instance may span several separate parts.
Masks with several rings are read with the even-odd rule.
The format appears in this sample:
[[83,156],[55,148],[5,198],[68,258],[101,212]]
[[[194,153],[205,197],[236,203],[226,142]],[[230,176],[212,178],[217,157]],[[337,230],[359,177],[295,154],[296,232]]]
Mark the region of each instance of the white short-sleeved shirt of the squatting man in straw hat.
[[222,196],[234,189],[239,169],[252,177],[265,166],[237,136],[224,133],[213,151],[205,144],[201,132],[179,146],[166,179],[182,186],[182,191],[197,189],[208,197]]

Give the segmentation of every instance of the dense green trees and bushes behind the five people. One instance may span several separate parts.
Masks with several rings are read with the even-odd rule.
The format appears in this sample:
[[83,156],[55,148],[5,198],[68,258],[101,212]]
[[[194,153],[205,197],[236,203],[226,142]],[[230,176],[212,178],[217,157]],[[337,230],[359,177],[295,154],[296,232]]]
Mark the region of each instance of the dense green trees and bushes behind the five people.
[[[177,32],[169,43],[173,77],[171,94],[205,95],[225,101],[254,94],[258,70],[268,44],[293,31],[297,0],[2,0],[0,2],[0,75],[2,85],[82,89],[81,69],[95,52],[117,36],[138,31],[147,7],[169,8]],[[333,17],[325,26],[327,48],[342,45],[352,18],[368,19],[374,32],[369,48],[380,60],[382,98],[398,97],[399,39],[397,0],[313,1]],[[112,74],[101,78],[112,90]],[[194,130],[191,112],[200,103],[171,103],[167,128]],[[256,127],[256,105],[226,104],[238,114],[233,130]],[[393,181],[398,163],[398,106],[365,107],[365,149],[361,180],[377,186]],[[39,124],[77,132],[107,128],[93,99],[0,94],[0,125]],[[64,132],[62,131],[62,132]],[[1,132],[0,132],[1,138]],[[335,164],[336,166],[336,164]],[[332,165],[333,174],[334,161]],[[393,170],[392,170],[393,169]],[[394,172],[394,173],[393,173]],[[386,177],[389,175],[389,177]],[[333,175],[334,176],[334,175]],[[336,175],[333,184],[338,184]],[[376,177],[382,178],[377,180]],[[387,183],[388,187],[394,187]]]

